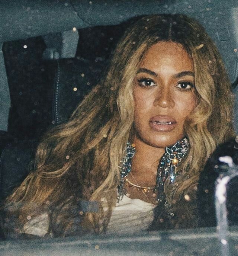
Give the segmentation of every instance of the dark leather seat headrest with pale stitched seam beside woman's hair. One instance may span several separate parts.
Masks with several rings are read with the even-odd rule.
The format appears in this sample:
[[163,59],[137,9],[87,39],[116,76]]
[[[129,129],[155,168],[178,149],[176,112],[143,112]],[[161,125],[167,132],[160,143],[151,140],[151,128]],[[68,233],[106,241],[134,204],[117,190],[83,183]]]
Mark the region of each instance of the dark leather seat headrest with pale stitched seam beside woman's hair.
[[70,118],[84,96],[99,83],[103,64],[77,58],[53,62],[50,61],[54,70],[52,123],[61,124]]

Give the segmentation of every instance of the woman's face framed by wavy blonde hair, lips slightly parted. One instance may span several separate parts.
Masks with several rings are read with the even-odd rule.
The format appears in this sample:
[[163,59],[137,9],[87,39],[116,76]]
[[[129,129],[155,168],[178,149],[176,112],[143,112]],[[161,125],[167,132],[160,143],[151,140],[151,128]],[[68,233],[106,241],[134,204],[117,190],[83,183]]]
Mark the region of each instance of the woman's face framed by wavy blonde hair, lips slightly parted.
[[196,106],[193,61],[187,52],[174,42],[153,45],[134,85],[136,137],[157,148],[175,144]]

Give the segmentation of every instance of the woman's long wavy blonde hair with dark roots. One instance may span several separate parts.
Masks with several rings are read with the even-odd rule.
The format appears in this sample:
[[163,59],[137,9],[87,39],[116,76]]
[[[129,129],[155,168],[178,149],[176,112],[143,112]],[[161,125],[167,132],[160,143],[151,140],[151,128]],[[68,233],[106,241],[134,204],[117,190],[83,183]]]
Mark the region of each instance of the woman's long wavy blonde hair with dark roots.
[[[10,214],[19,223],[24,223],[21,216],[37,214],[45,204],[59,205],[70,196],[104,200],[107,212],[86,214],[85,223],[96,229],[101,215],[108,222],[120,181],[118,166],[134,136],[133,80],[145,52],[159,41],[182,45],[195,71],[197,106],[184,125],[191,148],[181,167],[186,175],[178,196],[197,182],[216,146],[234,135],[231,84],[218,49],[202,26],[184,15],[140,17],[118,42],[102,82],[67,123],[45,134],[36,151],[35,170],[7,198]],[[63,229],[70,218],[70,212],[61,218]]]

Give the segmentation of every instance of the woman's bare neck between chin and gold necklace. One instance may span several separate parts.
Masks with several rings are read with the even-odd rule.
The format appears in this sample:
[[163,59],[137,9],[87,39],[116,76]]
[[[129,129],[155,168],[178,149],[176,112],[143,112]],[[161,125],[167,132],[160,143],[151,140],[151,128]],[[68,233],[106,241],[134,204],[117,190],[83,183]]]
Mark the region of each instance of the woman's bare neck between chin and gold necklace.
[[135,137],[134,142],[136,153],[132,159],[132,175],[139,184],[155,185],[157,168],[164,148],[152,147]]

